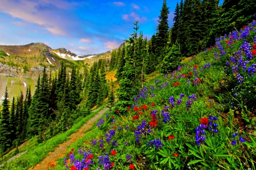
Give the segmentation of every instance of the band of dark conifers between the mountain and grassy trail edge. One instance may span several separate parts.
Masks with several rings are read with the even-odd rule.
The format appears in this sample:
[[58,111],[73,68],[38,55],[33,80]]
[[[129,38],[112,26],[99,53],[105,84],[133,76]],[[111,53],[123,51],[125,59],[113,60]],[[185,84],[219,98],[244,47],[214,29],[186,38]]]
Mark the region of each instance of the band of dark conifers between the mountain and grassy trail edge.
[[[108,96],[106,60],[99,59],[81,73],[75,66],[71,73],[61,64],[56,76],[44,68],[39,75],[34,96],[30,87],[10,101],[6,87],[0,118],[0,155],[37,136],[39,143],[61,133],[90,113]],[[83,104],[79,105],[81,101]],[[10,104],[11,103],[11,104]]]

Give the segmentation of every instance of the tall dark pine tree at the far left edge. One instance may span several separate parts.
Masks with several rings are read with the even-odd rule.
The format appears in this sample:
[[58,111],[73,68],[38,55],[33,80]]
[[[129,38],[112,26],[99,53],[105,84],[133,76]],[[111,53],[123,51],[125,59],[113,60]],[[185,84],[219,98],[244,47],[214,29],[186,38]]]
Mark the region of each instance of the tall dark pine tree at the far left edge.
[[[11,130],[9,125],[10,111],[7,87],[2,103],[1,119],[0,119],[0,150],[5,152],[11,146]],[[2,153],[1,153],[2,154]]]

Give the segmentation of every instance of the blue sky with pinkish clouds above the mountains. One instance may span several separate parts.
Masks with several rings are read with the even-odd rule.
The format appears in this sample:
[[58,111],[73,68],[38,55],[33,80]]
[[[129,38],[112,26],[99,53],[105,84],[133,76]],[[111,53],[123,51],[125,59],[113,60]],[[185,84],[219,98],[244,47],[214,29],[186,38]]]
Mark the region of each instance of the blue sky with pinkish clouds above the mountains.
[[[169,27],[177,2],[167,0]],[[150,39],[162,5],[155,0],[0,0],[0,45],[43,42],[81,56],[104,53],[129,39],[136,20]]]

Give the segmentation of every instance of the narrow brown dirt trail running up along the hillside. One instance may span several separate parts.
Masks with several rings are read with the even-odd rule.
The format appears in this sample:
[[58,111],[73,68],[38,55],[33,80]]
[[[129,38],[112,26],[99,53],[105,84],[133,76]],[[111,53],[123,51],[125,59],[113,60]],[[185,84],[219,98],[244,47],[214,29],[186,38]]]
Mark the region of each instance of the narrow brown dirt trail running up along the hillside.
[[79,131],[73,133],[72,135],[70,135],[68,138],[68,141],[65,141],[63,143],[61,143],[58,147],[55,148],[55,151],[53,152],[49,152],[49,155],[44,158],[42,160],[42,162],[40,162],[39,164],[35,165],[34,168],[30,168],[28,170],[32,170],[32,169],[36,169],[36,170],[46,170],[46,169],[51,169],[53,167],[55,167],[56,165],[56,159],[63,157],[66,152],[67,152],[67,148],[69,145],[71,145],[72,143],[76,142],[77,139],[79,139],[80,137],[82,137],[84,135],[84,131],[88,128],[90,128],[93,123],[102,116],[102,114],[104,114],[106,112],[106,110],[108,110],[109,108],[104,108],[102,109],[100,112],[98,112],[93,118],[91,118],[88,122],[86,122],[86,124],[84,124]]

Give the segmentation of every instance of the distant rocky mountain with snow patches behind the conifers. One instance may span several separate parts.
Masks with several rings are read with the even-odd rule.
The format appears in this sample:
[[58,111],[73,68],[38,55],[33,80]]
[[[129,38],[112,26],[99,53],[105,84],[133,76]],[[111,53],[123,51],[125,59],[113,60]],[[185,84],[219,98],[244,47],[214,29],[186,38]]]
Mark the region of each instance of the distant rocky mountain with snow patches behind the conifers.
[[36,80],[43,73],[50,70],[54,75],[60,68],[61,62],[67,66],[67,71],[75,65],[80,71],[92,65],[99,58],[110,58],[111,52],[77,56],[65,48],[52,49],[42,42],[27,45],[0,45],[0,104],[5,87],[8,88],[9,98],[18,96],[20,91],[26,92],[31,86],[34,94]]

